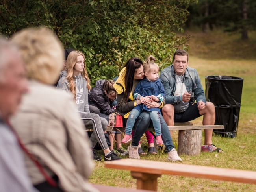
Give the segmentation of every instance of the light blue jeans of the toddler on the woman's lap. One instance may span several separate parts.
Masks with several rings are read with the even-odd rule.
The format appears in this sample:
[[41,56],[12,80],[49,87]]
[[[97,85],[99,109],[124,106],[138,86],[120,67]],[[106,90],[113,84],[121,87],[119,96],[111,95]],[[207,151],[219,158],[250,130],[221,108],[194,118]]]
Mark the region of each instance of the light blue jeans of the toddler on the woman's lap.
[[[155,129],[155,135],[156,136],[161,135],[161,123],[160,123],[158,111],[146,111],[146,112],[149,113],[150,119],[153,122],[153,126]],[[137,109],[132,109],[131,113],[129,114],[127,124],[125,127],[125,134],[131,135],[135,120],[137,119],[139,114],[141,114],[141,111],[139,111]]]

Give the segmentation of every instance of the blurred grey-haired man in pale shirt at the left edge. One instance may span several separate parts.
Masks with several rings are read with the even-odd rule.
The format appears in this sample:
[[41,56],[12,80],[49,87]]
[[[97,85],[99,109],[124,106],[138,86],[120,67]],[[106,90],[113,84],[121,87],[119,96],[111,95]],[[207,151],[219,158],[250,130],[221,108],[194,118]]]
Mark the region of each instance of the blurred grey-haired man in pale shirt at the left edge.
[[18,50],[0,38],[0,191],[36,192],[26,172],[22,151],[8,119],[28,91]]

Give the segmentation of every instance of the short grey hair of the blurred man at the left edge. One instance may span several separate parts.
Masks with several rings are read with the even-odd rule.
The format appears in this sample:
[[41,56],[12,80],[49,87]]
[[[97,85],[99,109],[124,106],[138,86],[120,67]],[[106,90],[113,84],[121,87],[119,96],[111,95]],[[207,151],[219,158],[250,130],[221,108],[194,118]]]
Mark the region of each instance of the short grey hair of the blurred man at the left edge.
[[[10,54],[7,54],[10,52]],[[9,57],[11,55],[17,54],[19,55],[18,49],[14,44],[11,44],[8,40],[4,39],[4,37],[0,37],[0,81],[4,81],[4,72],[9,64]]]

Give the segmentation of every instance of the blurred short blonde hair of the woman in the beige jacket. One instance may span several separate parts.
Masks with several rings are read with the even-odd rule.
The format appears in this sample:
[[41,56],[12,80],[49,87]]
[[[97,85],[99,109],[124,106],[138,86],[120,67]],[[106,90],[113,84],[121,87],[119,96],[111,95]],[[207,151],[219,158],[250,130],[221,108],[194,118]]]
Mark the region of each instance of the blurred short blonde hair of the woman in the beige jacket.
[[28,28],[13,35],[24,60],[28,79],[54,84],[63,67],[64,50],[54,33],[46,28]]

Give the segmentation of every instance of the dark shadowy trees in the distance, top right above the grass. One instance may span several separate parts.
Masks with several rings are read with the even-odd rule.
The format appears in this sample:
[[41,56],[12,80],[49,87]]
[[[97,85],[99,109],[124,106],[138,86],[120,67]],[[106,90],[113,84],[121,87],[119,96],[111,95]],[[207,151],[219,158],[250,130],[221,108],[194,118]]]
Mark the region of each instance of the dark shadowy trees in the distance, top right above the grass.
[[200,0],[189,7],[189,12],[190,22],[202,26],[206,33],[223,27],[224,31],[237,31],[242,39],[248,39],[248,30],[256,28],[255,0]]

